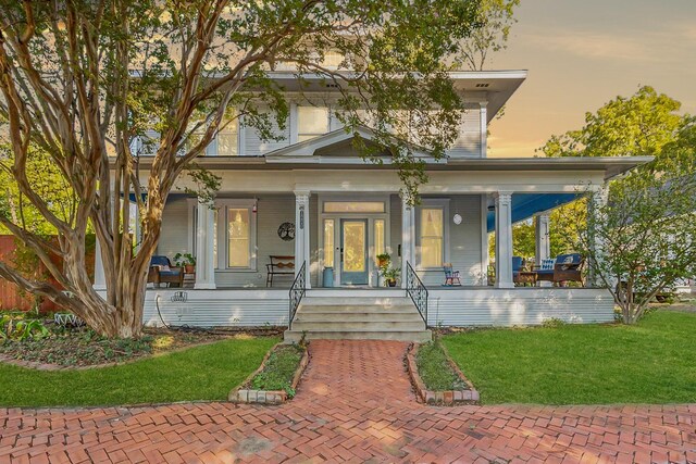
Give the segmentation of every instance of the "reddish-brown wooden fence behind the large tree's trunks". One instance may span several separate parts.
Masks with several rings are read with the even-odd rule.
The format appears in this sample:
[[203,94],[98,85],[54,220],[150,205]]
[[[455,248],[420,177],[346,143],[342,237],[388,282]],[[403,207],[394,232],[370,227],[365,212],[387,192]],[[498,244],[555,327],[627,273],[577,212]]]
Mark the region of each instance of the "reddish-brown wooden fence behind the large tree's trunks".
[[[8,263],[10,266],[15,266],[16,254],[15,251],[17,249],[16,241],[14,236],[11,235],[0,235],[0,261]],[[95,271],[95,250],[94,247],[88,247],[87,252],[87,263],[88,263],[88,272],[90,276],[94,278]],[[55,263],[60,263],[60,258],[55,256]],[[44,276],[44,279],[50,281],[53,285],[57,285],[55,280],[48,277],[48,273],[46,271],[46,266],[39,262],[37,268],[37,276]],[[5,280],[0,277],[0,311],[1,310],[21,310],[28,311],[34,309],[36,305],[39,305],[40,311],[57,311],[58,306],[52,302],[44,299],[37,299],[34,294],[28,293],[26,291],[22,291],[16,285],[13,283]]]

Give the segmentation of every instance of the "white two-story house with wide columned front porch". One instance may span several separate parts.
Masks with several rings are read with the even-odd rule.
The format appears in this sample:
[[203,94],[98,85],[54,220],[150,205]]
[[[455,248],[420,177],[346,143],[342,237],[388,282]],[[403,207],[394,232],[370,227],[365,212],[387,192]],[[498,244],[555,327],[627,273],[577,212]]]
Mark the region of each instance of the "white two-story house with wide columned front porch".
[[[291,72],[273,75],[291,89]],[[427,162],[430,180],[420,188],[422,201],[414,208],[399,197],[401,183],[388,156],[375,165],[352,149],[352,135],[326,105],[333,90],[319,78],[304,76],[311,87],[302,101],[314,105],[300,100],[291,105],[285,140],[263,142],[244,125],[220,134],[197,161],[222,178],[216,209],[183,193],[189,185],[182,178],[167,200],[157,252],[169,258],[196,254],[195,280],[184,289],[148,290],[146,322],[160,323],[159,306],[172,324],[287,325],[295,276],[276,276],[273,287],[266,287],[266,265],[271,256],[288,255],[295,259],[295,274],[304,273],[307,292],[298,314],[310,305],[323,314],[314,314],[315,325],[309,324],[312,317],[298,316],[295,331],[360,337],[355,333],[364,333],[374,321],[383,336],[408,339],[410,329],[399,328],[399,311],[415,311],[403,290],[418,287],[410,267],[427,287],[428,326],[525,325],[551,317],[612,321],[613,301],[605,289],[514,287],[512,224],[569,201],[587,185],[601,188],[646,159],[487,158],[488,124],[526,72],[455,72],[451,77],[468,111],[448,158]],[[360,135],[368,141],[372,137],[368,128]],[[422,155],[427,160],[427,153]],[[147,156],[140,164],[147,168]],[[490,230],[497,244],[494,287],[486,278]],[[402,289],[383,287],[376,262],[383,252],[400,268]],[[537,254],[548,258],[545,253]],[[443,286],[445,263],[460,272],[461,287]],[[327,267],[333,272],[324,272]],[[98,287],[103,286],[100,279]],[[423,293],[411,293],[424,313],[423,299],[418,299]],[[398,311],[382,326],[366,310],[352,328],[322,326],[328,323],[324,319],[340,321],[345,303]]]

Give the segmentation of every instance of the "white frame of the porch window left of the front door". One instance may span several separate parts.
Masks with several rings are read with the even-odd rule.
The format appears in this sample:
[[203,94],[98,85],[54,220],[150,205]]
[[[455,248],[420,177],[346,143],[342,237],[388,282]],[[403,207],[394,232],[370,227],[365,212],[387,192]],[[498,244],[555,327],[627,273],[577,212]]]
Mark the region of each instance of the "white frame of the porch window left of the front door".
[[[188,202],[188,247],[192,250],[191,254],[196,254],[196,221],[194,215],[196,214],[198,200],[195,198],[189,199]],[[259,236],[258,236],[258,214],[253,212],[253,206],[257,204],[256,199],[232,199],[222,198],[215,200],[215,210],[217,210],[217,262],[215,263],[215,272],[226,273],[256,273],[258,271],[258,254],[259,254]],[[245,267],[229,267],[227,265],[227,253],[229,248],[229,228],[227,227],[229,209],[246,209],[249,210],[249,266]]]

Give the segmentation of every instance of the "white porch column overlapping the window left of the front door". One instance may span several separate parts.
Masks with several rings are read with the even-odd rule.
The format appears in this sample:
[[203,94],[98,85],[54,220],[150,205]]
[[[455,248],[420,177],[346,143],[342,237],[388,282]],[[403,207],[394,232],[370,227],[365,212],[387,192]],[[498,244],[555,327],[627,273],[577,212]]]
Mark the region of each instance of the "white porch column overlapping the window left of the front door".
[[197,289],[215,288],[215,212],[198,199],[196,208],[196,284]]

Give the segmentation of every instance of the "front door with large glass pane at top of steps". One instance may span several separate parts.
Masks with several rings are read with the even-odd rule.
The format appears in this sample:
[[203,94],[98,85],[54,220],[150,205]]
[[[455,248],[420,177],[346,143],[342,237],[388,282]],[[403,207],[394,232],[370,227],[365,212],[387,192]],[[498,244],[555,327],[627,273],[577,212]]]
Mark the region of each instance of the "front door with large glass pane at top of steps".
[[340,220],[340,284],[368,285],[368,220]]

